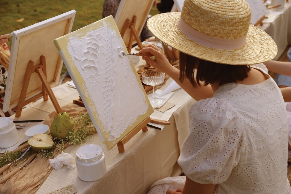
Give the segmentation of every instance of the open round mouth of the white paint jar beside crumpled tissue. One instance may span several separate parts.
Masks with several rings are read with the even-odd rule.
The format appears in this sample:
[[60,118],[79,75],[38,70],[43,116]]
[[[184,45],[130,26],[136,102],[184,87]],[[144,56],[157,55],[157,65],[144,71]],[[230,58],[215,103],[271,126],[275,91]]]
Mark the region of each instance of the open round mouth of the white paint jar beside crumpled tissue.
[[102,148],[95,144],[87,144],[85,146],[80,147],[76,156],[78,159],[91,159],[98,157],[102,153]]

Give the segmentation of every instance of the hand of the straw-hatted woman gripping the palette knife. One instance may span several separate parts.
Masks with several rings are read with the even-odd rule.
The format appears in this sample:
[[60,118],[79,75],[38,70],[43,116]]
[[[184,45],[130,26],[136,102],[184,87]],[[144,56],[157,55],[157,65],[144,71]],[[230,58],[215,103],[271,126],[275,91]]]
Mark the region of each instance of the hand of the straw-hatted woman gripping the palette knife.
[[[140,53],[146,55],[142,57],[143,60],[149,62],[151,66],[161,72],[167,74],[167,71],[173,67],[164,55],[164,52],[154,44],[145,46],[142,50],[140,50]],[[149,56],[154,56],[155,59],[153,60]]]

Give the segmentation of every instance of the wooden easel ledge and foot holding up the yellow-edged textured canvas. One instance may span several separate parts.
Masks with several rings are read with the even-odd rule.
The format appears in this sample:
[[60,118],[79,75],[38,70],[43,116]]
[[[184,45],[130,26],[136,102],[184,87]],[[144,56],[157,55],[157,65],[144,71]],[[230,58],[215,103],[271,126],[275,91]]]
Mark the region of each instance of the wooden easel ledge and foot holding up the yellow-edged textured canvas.
[[119,153],[124,152],[124,144],[128,142],[133,136],[135,136],[140,130],[143,132],[148,131],[148,128],[146,127],[146,124],[151,122],[151,118],[148,116],[143,122],[141,122],[139,125],[137,125],[129,134],[127,134],[124,138],[122,138],[118,143],[117,143],[117,148]]

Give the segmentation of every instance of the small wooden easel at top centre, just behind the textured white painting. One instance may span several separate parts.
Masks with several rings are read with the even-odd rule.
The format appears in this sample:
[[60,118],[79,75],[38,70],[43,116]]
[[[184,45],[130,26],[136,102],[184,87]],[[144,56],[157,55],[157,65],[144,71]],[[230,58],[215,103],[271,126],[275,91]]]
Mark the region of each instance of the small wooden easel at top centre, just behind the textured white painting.
[[123,26],[121,28],[121,31],[120,31],[120,35],[123,38],[124,34],[125,34],[125,31],[127,29],[130,29],[129,42],[128,42],[128,45],[126,45],[128,53],[131,53],[133,37],[135,37],[135,40],[136,40],[137,45],[139,46],[139,48],[140,49],[143,48],[143,45],[142,45],[141,40],[140,40],[140,37],[138,36],[137,31],[135,30],[135,23],[136,23],[136,16],[134,15],[132,17],[131,21],[129,19],[125,20],[125,22],[124,22],[124,24],[123,24]]

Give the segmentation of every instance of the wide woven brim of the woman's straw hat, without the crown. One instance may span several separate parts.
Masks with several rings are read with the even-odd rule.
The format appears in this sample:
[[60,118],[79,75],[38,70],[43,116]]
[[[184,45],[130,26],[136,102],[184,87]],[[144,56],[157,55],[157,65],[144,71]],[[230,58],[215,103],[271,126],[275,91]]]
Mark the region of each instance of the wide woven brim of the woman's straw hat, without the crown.
[[[246,43],[240,48],[222,50],[201,45],[183,34],[177,26],[181,12],[154,15],[148,19],[148,29],[167,45],[206,61],[231,65],[251,65],[273,59],[278,48],[263,30],[250,25]],[[203,25],[203,24],[201,24]]]

